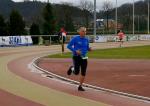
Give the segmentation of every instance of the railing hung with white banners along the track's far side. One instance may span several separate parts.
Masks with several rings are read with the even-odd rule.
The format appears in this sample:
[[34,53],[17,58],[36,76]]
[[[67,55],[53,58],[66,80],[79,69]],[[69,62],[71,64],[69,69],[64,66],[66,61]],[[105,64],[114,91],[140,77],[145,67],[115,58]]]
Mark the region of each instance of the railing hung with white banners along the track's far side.
[[[86,35],[86,36],[88,37],[90,43],[119,41],[118,36],[115,35],[97,35],[97,36]],[[73,35],[67,35],[65,43],[68,43],[72,39],[72,37]],[[150,40],[150,35],[139,34],[133,36],[132,34],[128,34],[124,37],[124,41],[137,41],[137,40]],[[62,38],[60,38],[58,35],[0,36],[0,46],[22,46],[22,45],[29,46],[32,44],[38,45],[62,44]]]

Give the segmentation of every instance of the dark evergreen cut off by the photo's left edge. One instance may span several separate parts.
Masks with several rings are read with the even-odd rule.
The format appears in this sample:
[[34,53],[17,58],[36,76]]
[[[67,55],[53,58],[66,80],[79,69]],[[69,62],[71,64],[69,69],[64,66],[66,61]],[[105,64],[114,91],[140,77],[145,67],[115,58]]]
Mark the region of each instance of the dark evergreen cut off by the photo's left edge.
[[2,15],[0,15],[0,36],[7,35],[7,25]]

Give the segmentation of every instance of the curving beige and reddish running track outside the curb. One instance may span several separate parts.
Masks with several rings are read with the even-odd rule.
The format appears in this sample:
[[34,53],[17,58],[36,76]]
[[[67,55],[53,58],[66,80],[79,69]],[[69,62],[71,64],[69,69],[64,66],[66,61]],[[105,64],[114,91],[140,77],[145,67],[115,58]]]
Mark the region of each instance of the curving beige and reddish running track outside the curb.
[[[137,42],[136,42],[137,43]],[[125,46],[134,45],[135,42],[126,43]],[[150,42],[138,42],[138,45],[150,45]],[[92,44],[93,48],[117,47],[118,43]],[[14,95],[17,103],[24,99],[26,103],[35,106],[149,106],[149,103],[131,98],[107,94],[106,92],[76,91],[74,85],[41,77],[40,74],[30,72],[28,64],[37,56],[60,52],[60,46],[17,47],[0,48],[0,89],[8,96]],[[63,88],[63,89],[62,89]],[[60,92],[61,91],[61,92]],[[71,95],[70,95],[71,94]],[[81,96],[81,97],[79,97]],[[3,98],[0,95],[0,98]],[[97,98],[97,99],[93,99]],[[7,99],[7,98],[6,98]],[[17,102],[17,103],[16,103]],[[3,103],[9,106],[10,103]],[[4,106],[1,102],[0,105]],[[34,106],[32,105],[32,106]],[[21,105],[22,106],[22,105]]]

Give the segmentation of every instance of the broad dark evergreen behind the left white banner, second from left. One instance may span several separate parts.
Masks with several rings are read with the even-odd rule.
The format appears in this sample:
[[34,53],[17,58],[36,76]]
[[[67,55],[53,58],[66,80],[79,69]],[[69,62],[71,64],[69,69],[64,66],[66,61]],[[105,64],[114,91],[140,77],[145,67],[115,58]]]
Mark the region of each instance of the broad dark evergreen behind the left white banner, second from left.
[[23,17],[16,10],[13,10],[10,14],[9,33],[10,35],[25,34],[25,22],[23,21]]

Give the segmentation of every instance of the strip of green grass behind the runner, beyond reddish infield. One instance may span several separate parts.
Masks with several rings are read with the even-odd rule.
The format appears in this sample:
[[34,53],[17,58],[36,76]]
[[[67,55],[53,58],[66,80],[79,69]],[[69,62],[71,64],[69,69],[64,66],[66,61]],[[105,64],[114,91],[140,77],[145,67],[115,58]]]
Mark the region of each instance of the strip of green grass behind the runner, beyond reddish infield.
[[[49,55],[49,58],[70,58],[71,53]],[[150,46],[94,50],[89,58],[97,59],[150,59]]]

